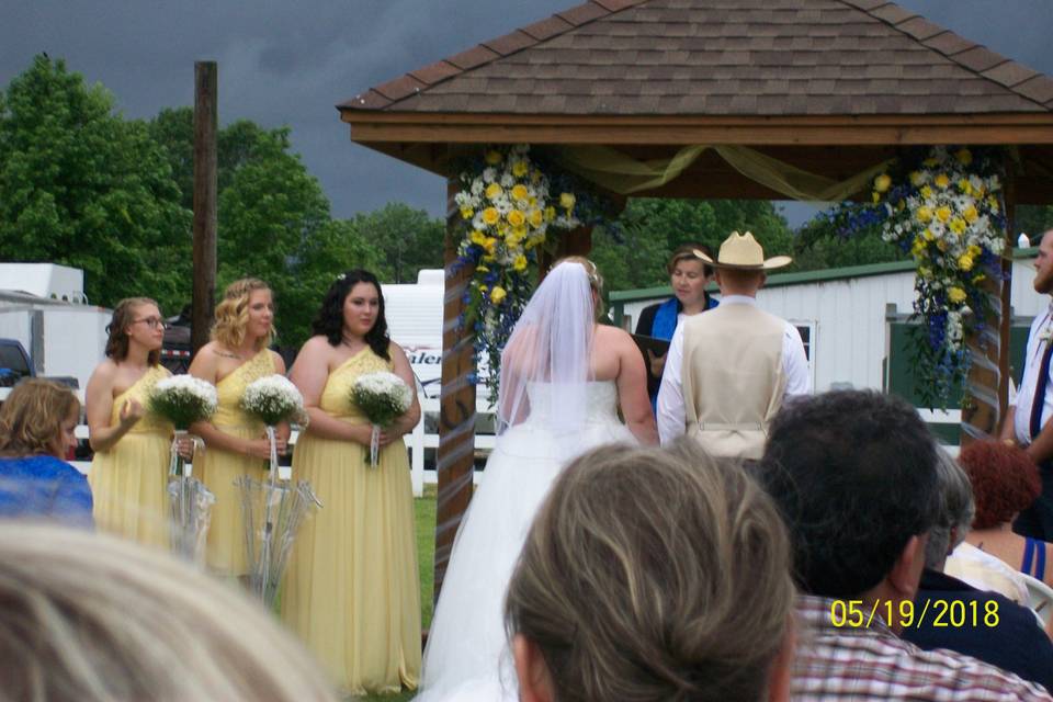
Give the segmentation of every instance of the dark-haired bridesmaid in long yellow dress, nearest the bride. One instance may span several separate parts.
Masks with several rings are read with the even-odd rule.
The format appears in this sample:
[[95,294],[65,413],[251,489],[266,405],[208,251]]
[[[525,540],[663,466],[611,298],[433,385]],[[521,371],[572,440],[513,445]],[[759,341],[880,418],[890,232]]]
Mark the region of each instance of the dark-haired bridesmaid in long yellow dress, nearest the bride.
[[420,679],[420,578],[409,462],[410,409],[381,434],[369,465],[371,427],[350,401],[364,373],[389,371],[415,388],[403,349],[388,339],[384,297],[372,273],[348,271],[330,286],[314,332],[290,375],[310,417],[293,452],[293,476],[325,505],[293,548],[282,616],[344,694],[416,689]]

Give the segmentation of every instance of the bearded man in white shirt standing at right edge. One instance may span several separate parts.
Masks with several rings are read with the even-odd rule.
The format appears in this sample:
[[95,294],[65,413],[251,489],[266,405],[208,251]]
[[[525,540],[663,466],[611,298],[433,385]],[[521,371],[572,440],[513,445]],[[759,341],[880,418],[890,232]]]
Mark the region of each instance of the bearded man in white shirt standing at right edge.
[[[1053,229],[1042,235],[1034,260],[1034,290],[1053,295]],[[1001,426],[1001,438],[1023,446],[1042,475],[1042,494],[1020,512],[1012,529],[1024,536],[1053,541],[1053,382],[1050,361],[1053,355],[1053,302],[1031,322],[1028,354],[1016,401],[1010,404]]]

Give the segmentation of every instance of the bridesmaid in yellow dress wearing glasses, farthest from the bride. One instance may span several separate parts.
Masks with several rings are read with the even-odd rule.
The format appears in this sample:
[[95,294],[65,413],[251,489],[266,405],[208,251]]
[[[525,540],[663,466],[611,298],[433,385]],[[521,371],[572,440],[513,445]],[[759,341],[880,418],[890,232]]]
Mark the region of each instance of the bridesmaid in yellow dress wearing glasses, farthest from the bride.
[[154,386],[170,375],[160,365],[165,320],[152,299],[132,297],[117,304],[107,329],[106,360],[86,393],[95,524],[168,548],[172,427],[146,411]]

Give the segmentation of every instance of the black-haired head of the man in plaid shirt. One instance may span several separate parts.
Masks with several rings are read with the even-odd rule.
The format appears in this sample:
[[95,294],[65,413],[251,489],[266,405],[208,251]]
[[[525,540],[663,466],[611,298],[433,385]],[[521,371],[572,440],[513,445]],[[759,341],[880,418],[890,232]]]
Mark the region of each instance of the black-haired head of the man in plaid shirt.
[[839,390],[783,408],[759,475],[790,529],[801,589],[856,598],[895,567],[892,585],[912,596],[939,507],[936,463],[928,429],[896,397]]

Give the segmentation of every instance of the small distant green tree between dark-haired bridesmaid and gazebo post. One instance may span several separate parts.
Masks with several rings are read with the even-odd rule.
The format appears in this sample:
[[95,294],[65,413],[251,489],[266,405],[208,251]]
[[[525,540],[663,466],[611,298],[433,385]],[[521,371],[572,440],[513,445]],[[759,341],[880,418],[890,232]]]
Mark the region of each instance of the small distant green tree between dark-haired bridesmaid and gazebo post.
[[400,202],[355,215],[359,236],[373,241],[381,253],[377,275],[392,283],[416,283],[424,268],[442,268],[445,223]]

